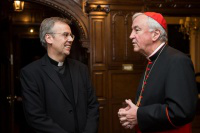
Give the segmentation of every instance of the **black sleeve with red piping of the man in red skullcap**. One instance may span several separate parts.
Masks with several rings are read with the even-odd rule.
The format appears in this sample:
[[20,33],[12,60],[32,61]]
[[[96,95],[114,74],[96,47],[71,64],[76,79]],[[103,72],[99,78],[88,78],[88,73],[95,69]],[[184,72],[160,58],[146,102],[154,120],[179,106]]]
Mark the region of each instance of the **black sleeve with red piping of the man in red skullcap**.
[[185,56],[173,58],[166,71],[164,102],[138,109],[141,131],[178,129],[195,116],[197,88],[191,60]]

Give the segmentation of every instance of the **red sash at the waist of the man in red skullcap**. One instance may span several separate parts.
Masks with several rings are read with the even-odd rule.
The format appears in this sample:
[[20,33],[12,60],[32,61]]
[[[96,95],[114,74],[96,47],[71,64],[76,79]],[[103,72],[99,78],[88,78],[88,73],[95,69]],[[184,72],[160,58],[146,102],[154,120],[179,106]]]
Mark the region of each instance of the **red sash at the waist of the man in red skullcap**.
[[[136,133],[142,133],[138,125],[135,126],[135,130],[136,130]],[[191,129],[191,124],[188,123],[177,129],[172,129],[172,130],[163,131],[163,132],[151,132],[151,133],[192,133],[192,129]]]

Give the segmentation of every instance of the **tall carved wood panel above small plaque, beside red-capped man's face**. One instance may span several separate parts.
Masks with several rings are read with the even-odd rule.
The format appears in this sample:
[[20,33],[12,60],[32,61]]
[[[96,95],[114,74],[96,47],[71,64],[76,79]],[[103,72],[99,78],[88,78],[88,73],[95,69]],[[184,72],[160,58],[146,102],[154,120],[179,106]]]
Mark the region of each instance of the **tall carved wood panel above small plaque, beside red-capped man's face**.
[[111,45],[109,47],[109,66],[121,66],[122,63],[141,65],[144,57],[133,52],[129,38],[131,34],[133,12],[111,12]]

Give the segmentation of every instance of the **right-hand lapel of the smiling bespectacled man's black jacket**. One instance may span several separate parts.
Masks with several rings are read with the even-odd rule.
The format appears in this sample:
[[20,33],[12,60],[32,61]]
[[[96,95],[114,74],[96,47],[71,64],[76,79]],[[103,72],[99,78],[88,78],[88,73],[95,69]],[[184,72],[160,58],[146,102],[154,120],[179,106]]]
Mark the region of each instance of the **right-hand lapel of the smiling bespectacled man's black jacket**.
[[75,104],[77,104],[78,79],[79,79],[79,76],[80,76],[80,75],[78,75],[79,68],[78,68],[78,65],[75,65],[75,63],[71,59],[67,59],[67,62],[69,64],[69,71],[70,71],[70,75],[71,75],[71,78],[72,78],[72,86],[73,86],[73,90],[74,90]]

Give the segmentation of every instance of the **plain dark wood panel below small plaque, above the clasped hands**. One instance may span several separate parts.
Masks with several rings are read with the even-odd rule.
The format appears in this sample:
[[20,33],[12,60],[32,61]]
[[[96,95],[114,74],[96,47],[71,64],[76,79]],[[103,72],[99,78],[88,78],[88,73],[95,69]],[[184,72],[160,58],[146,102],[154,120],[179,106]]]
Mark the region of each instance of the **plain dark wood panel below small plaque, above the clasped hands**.
[[122,70],[110,70],[109,98],[134,99],[141,73],[142,72],[139,70],[136,71],[136,73]]

